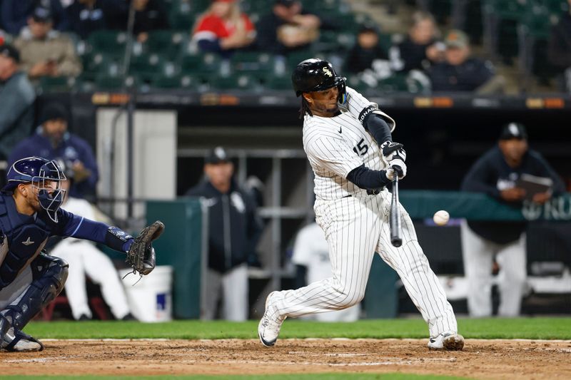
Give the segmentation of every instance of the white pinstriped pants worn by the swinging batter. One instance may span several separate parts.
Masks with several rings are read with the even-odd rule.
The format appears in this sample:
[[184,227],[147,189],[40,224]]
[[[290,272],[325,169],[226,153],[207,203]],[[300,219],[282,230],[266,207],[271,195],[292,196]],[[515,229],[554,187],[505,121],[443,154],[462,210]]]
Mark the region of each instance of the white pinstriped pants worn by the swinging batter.
[[403,280],[428,323],[431,337],[458,331],[453,309],[418,245],[413,222],[402,205],[403,245],[395,248],[390,244],[388,190],[378,195],[317,200],[314,209],[315,220],[328,241],[333,277],[279,292],[276,307],[282,316],[300,317],[357,304],[365,295],[373,255],[378,252]]

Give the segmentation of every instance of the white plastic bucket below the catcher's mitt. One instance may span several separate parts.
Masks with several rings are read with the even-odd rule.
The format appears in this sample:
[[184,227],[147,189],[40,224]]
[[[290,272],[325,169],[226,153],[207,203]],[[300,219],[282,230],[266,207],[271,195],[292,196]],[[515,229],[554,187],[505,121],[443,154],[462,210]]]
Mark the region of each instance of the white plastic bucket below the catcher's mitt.
[[[129,272],[132,271],[119,271],[121,278]],[[173,267],[161,265],[143,276],[139,282],[138,279],[138,274],[129,274],[123,279],[131,313],[141,322],[165,322],[173,319]]]

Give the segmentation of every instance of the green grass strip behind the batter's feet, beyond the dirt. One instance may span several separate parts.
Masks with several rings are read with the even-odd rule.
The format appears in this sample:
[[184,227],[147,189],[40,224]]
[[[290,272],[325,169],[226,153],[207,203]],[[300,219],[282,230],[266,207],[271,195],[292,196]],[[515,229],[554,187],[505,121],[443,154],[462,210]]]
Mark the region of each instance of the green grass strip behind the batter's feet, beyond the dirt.
[[[31,322],[25,332],[39,339],[166,338],[257,339],[257,321],[156,324],[139,322]],[[467,339],[571,339],[571,318],[459,319]],[[288,319],[280,338],[427,338],[422,319],[364,319],[353,323],[320,323]]]

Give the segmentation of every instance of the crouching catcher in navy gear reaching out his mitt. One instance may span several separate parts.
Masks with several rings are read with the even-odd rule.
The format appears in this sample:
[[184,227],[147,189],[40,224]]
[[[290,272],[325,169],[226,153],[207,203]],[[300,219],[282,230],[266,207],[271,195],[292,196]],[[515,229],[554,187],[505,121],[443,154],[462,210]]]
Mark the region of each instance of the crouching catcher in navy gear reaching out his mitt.
[[0,192],[0,348],[41,351],[44,345],[21,329],[64,289],[68,264],[43,251],[51,236],[76,237],[126,252],[134,272],[155,267],[151,245],[164,230],[161,222],[138,237],[118,227],[85,219],[59,208],[65,175],[55,161],[28,157],[16,161]]

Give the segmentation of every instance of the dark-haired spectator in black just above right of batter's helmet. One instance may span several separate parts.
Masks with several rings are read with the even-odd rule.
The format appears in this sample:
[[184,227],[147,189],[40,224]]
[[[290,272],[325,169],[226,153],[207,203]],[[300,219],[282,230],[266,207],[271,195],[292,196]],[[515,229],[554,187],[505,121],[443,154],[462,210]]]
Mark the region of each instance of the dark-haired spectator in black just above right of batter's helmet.
[[363,26],[357,34],[357,42],[345,59],[345,71],[360,73],[373,68],[373,61],[387,60],[388,55],[379,44],[379,34],[373,26]]

